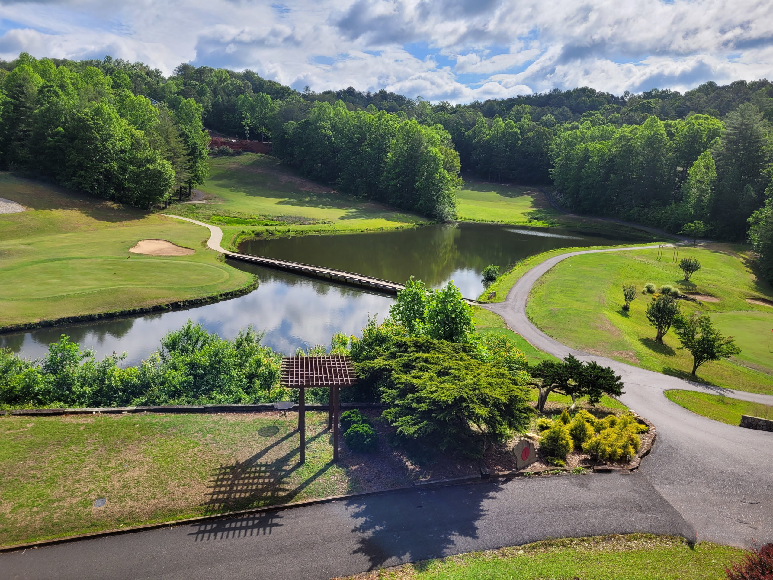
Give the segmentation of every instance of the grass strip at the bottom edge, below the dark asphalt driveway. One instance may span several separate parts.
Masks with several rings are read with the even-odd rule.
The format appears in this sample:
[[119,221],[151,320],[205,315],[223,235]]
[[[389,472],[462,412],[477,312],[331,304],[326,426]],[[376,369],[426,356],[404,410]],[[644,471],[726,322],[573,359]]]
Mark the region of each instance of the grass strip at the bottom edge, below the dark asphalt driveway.
[[[720,580],[744,551],[631,534],[548,540],[349,576],[349,580]],[[335,579],[334,579],[335,580]],[[339,579],[340,580],[340,579]]]

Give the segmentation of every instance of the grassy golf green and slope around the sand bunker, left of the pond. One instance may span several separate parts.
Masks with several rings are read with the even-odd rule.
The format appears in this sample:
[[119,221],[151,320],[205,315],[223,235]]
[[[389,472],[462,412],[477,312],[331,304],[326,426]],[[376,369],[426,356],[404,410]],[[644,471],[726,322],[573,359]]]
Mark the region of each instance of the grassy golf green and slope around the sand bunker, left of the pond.
[[[0,173],[0,197],[29,210],[0,215],[0,326],[215,295],[251,276],[217,261],[208,232],[169,217]],[[146,238],[196,254],[129,254]],[[131,259],[127,259],[131,255]]]

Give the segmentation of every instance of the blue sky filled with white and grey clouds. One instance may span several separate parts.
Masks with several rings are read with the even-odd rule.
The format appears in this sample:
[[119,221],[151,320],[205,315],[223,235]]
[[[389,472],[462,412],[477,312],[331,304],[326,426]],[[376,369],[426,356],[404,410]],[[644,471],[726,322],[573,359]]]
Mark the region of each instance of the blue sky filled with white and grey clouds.
[[0,0],[0,58],[250,69],[466,103],[773,77],[770,0]]

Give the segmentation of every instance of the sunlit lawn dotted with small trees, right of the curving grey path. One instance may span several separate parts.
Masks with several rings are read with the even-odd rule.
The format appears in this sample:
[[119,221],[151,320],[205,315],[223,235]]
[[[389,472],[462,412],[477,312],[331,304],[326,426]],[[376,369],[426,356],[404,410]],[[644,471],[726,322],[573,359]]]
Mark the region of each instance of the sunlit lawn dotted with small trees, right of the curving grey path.
[[[673,331],[664,343],[655,342],[655,331],[645,318],[652,295],[642,286],[673,285],[683,292],[700,292],[718,302],[679,301],[682,312],[705,312],[717,317],[717,326],[733,331],[741,354],[731,360],[705,363],[697,379],[707,384],[758,393],[773,393],[773,354],[766,355],[773,328],[773,309],[753,305],[747,298],[770,298],[769,285],[754,274],[744,248],[725,244],[683,247],[681,257],[698,258],[703,268],[682,282],[682,271],[671,263],[671,252],[656,261],[657,250],[584,254],[567,258],[540,278],[533,287],[526,313],[530,319],[562,343],[590,353],[615,358],[650,370],[694,378],[692,356],[680,350]],[[633,282],[638,288],[631,310],[621,306],[621,286]],[[754,320],[754,325],[748,321]],[[765,326],[767,325],[767,326]],[[765,331],[767,329],[767,331]]]

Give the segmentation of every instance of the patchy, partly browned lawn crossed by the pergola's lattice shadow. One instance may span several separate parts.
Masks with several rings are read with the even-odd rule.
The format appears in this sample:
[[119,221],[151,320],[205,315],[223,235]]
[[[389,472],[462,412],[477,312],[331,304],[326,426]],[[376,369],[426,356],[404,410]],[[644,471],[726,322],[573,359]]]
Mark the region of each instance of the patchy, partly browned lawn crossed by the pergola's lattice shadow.
[[274,415],[0,417],[0,544],[359,490],[359,459],[332,462],[326,412],[306,415],[303,466],[297,415]]

